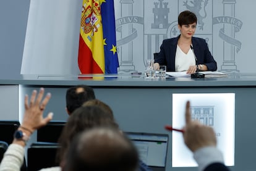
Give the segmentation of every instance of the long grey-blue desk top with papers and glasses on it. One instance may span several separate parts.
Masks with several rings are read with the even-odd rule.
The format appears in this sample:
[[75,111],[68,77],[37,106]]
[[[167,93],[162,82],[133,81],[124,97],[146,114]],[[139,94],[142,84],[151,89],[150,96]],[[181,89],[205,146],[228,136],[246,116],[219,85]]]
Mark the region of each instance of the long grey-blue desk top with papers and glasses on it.
[[85,84],[90,86],[166,86],[166,87],[198,87],[198,86],[256,86],[256,74],[236,74],[220,78],[154,78],[131,75],[17,75],[7,78],[0,75],[1,85],[45,85],[72,86]]

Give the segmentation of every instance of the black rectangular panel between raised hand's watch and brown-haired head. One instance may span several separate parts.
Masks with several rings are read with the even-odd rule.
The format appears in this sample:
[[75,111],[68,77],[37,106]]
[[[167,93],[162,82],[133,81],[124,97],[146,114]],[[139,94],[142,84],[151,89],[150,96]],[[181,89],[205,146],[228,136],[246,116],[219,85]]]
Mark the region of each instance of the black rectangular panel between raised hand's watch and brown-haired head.
[[66,121],[51,121],[37,130],[37,141],[57,143]]

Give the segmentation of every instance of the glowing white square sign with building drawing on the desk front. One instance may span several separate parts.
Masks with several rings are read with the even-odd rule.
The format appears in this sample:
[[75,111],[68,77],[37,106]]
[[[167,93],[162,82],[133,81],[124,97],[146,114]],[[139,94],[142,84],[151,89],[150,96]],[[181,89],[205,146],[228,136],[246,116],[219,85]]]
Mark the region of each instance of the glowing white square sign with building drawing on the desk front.
[[[185,123],[185,106],[190,101],[191,119],[212,127],[223,152],[224,164],[234,165],[235,93],[173,93],[173,127]],[[197,167],[182,134],[172,133],[172,167]]]

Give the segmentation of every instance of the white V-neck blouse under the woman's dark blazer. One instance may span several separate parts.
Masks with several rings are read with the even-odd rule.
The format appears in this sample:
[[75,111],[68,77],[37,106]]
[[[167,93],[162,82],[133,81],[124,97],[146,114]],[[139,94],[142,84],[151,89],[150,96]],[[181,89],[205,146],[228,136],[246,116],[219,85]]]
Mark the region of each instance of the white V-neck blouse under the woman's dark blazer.
[[184,53],[179,45],[177,45],[176,56],[175,56],[175,71],[181,72],[189,69],[190,65],[195,65],[195,57],[192,49],[189,52]]

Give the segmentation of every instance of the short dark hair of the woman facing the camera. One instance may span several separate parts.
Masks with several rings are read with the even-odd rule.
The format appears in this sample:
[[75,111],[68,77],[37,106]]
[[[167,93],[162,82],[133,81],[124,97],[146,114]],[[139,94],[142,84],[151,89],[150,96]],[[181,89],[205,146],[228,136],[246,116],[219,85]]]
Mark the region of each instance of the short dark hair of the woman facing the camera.
[[178,24],[180,27],[182,27],[182,25],[189,25],[192,23],[197,24],[197,15],[195,15],[193,12],[184,10],[179,14]]

